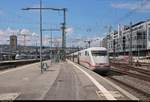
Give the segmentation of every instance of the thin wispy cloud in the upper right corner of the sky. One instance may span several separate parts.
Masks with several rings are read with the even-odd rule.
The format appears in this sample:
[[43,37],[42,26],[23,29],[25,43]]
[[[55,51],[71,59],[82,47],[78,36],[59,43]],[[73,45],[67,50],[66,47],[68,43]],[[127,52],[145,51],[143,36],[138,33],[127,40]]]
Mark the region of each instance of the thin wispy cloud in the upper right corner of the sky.
[[136,10],[137,12],[150,12],[150,1],[143,0],[135,3],[113,3],[111,7],[118,9]]

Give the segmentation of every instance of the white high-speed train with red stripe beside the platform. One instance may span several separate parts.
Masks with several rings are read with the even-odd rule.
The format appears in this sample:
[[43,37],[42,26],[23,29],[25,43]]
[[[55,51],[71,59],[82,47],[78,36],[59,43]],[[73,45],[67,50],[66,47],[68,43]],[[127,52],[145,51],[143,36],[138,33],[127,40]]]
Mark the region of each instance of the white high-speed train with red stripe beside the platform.
[[104,47],[91,47],[68,56],[74,62],[100,72],[108,72],[110,69],[107,49]]

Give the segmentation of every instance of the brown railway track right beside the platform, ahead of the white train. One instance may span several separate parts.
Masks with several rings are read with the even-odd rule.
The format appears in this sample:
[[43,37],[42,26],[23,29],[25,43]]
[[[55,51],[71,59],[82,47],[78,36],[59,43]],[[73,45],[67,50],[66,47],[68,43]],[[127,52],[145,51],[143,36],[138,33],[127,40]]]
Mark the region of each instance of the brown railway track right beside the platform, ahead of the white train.
[[[124,72],[124,71],[121,71],[121,70],[118,70],[118,69],[111,69],[110,71],[120,73],[119,74],[120,78],[119,77],[113,77],[113,76],[118,76],[118,75],[114,74],[114,75],[107,75],[106,76],[107,79],[112,80],[116,83],[119,83],[119,84],[121,84],[121,85],[123,85],[123,86],[125,86],[129,89],[132,89],[137,93],[142,94],[144,97],[146,97],[146,99],[150,99],[150,92],[146,91],[146,90],[143,90],[143,88],[137,87],[136,86],[137,83],[134,82],[134,80],[132,81],[134,84],[133,83],[129,84],[128,81],[122,80],[123,78],[121,78],[122,74],[123,74],[123,75],[126,75],[126,77],[129,76],[129,77],[136,78],[136,79],[139,80],[139,82],[144,80],[144,81],[147,81],[149,83],[150,82],[150,77],[135,74],[135,73],[131,73],[131,72]],[[128,79],[128,80],[130,80],[130,79]],[[145,86],[143,86],[143,87],[145,87]]]

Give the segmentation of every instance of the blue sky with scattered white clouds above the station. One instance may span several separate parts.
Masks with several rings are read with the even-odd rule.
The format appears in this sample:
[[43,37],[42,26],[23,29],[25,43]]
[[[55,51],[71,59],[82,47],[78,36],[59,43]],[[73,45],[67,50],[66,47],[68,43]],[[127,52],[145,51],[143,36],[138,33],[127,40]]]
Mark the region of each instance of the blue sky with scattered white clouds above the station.
[[[106,36],[108,27],[117,30],[118,24],[129,25],[150,18],[150,0],[43,0],[43,7],[67,8],[67,46],[85,46],[85,40],[93,39],[93,46]],[[22,8],[39,7],[39,0],[0,0],[0,44],[8,44],[9,36],[18,36],[18,44],[39,44],[39,11]],[[60,29],[63,13],[44,10],[43,29]],[[43,32],[43,45],[49,45],[50,31]],[[37,36],[35,36],[37,35]],[[61,41],[61,32],[52,36]],[[36,39],[37,37],[37,39]],[[61,46],[61,43],[58,43]]]

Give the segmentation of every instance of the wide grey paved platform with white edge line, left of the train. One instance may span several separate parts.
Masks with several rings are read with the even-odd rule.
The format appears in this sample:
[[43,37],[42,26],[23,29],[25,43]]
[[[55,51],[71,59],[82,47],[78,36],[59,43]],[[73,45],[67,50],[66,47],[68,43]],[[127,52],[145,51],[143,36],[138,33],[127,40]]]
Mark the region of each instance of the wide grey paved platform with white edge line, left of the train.
[[40,63],[0,72],[0,100],[139,100],[100,75],[73,62]]

